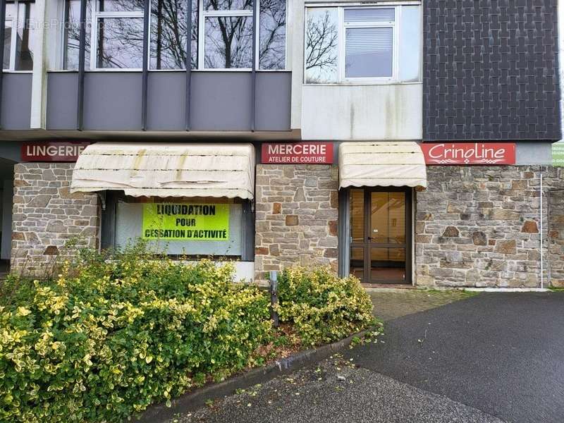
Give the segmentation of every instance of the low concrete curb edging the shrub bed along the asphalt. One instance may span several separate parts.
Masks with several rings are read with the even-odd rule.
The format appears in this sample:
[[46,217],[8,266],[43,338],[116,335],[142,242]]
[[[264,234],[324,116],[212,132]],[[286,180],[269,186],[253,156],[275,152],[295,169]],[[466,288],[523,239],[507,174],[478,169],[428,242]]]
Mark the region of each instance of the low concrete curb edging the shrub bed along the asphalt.
[[246,389],[256,384],[263,384],[281,374],[295,372],[309,364],[320,362],[338,353],[338,351],[343,350],[343,348],[348,347],[350,343],[353,342],[353,338],[362,338],[370,330],[371,329],[367,329],[355,333],[341,341],[322,345],[315,350],[302,351],[290,357],[277,360],[266,367],[259,367],[258,369],[250,370],[250,372],[233,376],[219,384],[204,386],[204,388],[197,389],[197,391],[192,393],[186,393],[172,400],[171,407],[166,407],[164,404],[152,405],[148,407],[142,415],[133,417],[133,421],[141,423],[164,423],[168,419],[173,418],[177,413],[195,411],[203,407],[207,400],[223,398],[231,395],[237,389]]

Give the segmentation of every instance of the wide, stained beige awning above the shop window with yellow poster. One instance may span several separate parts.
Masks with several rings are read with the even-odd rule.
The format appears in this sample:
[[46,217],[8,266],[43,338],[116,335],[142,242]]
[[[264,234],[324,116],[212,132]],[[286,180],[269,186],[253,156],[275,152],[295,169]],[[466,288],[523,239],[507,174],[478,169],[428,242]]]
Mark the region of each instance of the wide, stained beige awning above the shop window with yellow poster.
[[104,190],[123,190],[133,197],[250,200],[255,192],[255,147],[98,142],[80,154],[71,191]]

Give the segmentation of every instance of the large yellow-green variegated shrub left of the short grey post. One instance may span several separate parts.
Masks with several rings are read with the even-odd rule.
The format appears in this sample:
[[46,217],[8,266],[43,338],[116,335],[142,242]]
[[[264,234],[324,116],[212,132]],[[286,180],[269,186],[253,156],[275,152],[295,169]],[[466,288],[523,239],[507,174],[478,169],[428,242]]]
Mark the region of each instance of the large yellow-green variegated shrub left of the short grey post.
[[2,288],[1,422],[119,422],[260,360],[269,300],[233,266],[142,246],[107,258],[85,251],[54,281]]

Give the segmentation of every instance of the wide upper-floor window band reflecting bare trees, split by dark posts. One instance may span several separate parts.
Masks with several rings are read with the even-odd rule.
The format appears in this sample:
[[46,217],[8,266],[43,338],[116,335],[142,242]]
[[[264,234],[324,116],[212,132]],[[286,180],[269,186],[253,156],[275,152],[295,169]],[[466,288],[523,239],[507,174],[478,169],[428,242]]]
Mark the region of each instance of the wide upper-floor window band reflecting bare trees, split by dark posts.
[[[252,0],[151,0],[149,68],[252,68]],[[286,68],[286,0],[257,0],[257,68]],[[140,69],[145,0],[88,1],[86,67]],[[80,0],[66,0],[64,68],[78,68]],[[94,46],[94,49],[91,49]],[[90,64],[93,63],[93,66]]]

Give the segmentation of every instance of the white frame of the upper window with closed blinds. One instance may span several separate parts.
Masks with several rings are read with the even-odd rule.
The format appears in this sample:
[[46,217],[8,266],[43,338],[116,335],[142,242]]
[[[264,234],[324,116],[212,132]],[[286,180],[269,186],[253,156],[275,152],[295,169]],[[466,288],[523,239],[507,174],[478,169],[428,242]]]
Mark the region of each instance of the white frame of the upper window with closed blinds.
[[[399,79],[399,59],[400,59],[400,26],[401,26],[401,13],[403,6],[419,6],[419,12],[421,13],[422,5],[419,1],[391,1],[389,4],[334,4],[334,3],[321,3],[315,2],[312,4],[306,4],[306,13],[304,19],[305,28],[307,28],[307,20],[309,19],[307,11],[313,8],[336,8],[337,9],[337,25],[338,25],[338,37],[337,37],[337,80],[336,82],[321,82],[312,83],[307,82],[307,69],[305,60],[303,61],[303,84],[304,85],[391,85],[398,83],[421,83],[418,82],[402,82]],[[394,21],[381,21],[381,22],[362,22],[362,23],[345,23],[345,9],[359,9],[359,8],[394,8]],[[362,27],[393,27],[393,44],[392,44],[392,76],[388,77],[376,77],[376,78],[345,78],[345,36],[346,30],[348,28],[362,28]],[[307,32],[304,29],[304,54],[306,45]],[[422,37],[419,40],[419,44],[422,45]],[[419,79],[421,79],[421,70],[419,70]]]

